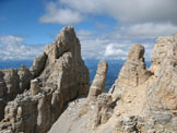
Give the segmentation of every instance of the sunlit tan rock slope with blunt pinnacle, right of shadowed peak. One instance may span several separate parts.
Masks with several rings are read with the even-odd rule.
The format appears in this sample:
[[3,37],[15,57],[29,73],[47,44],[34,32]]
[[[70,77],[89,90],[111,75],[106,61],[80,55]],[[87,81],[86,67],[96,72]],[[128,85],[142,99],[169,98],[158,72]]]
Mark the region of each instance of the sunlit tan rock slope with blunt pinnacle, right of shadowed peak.
[[49,133],[176,133],[176,52],[177,34],[158,38],[146,69],[143,46],[133,45],[109,93],[73,102],[74,116],[71,102]]

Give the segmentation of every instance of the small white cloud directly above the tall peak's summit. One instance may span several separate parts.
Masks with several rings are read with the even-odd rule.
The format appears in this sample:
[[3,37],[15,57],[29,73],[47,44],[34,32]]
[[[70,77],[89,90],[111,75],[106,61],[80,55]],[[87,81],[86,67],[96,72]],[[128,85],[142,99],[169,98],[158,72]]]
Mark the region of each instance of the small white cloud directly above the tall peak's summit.
[[39,19],[42,23],[59,23],[63,25],[78,24],[82,20],[83,16],[79,12],[71,9],[58,9],[54,2],[47,5],[47,14]]

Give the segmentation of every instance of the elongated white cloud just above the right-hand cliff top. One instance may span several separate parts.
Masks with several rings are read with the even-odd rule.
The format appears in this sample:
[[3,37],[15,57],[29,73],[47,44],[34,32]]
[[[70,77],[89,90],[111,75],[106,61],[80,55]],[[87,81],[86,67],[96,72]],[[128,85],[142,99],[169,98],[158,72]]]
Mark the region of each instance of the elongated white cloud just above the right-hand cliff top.
[[156,38],[158,36],[169,36],[177,32],[177,26],[170,23],[154,24],[143,23],[120,27],[119,37],[129,38]]

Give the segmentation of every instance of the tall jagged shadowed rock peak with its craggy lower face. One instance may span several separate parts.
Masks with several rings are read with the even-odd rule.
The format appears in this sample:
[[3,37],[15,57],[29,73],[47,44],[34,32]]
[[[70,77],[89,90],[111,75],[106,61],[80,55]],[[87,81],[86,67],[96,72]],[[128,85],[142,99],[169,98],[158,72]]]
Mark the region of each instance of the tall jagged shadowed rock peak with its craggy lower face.
[[63,28],[30,70],[35,80],[30,90],[8,102],[0,123],[2,132],[46,133],[68,101],[88,93],[88,70],[73,27]]

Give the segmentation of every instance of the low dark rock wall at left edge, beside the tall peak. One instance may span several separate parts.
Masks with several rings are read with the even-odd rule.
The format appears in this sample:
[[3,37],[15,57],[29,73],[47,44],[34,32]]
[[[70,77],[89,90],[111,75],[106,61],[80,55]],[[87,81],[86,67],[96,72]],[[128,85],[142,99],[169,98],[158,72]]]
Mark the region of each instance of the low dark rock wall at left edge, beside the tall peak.
[[30,88],[32,74],[28,69],[8,69],[0,71],[0,120],[4,114],[4,106],[13,100],[17,94]]

